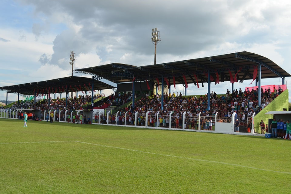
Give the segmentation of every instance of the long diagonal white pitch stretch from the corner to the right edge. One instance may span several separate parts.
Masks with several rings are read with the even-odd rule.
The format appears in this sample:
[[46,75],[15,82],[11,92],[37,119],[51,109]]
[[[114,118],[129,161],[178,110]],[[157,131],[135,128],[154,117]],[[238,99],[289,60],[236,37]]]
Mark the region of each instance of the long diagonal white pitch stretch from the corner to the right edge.
[[[79,141],[75,141],[75,142],[79,142]],[[88,143],[88,142],[79,142],[79,143],[85,143],[85,144],[108,147],[108,148],[115,148],[115,149],[123,149],[123,150],[128,150],[128,151],[132,151],[132,152],[140,152],[140,153],[145,153],[145,154],[154,154],[154,155],[167,156],[167,157],[173,157],[173,158],[181,158],[181,159],[189,159],[189,160],[196,160],[196,161],[202,161],[202,162],[219,163],[219,164],[225,164],[225,165],[228,165],[228,166],[237,166],[237,167],[242,167],[242,168],[249,168],[249,169],[263,170],[263,171],[268,171],[268,172],[277,172],[277,173],[283,173],[283,174],[290,174],[291,175],[291,172],[281,172],[281,171],[276,171],[276,170],[260,169],[260,168],[256,168],[256,167],[243,166],[243,165],[239,165],[239,164],[231,164],[231,163],[226,163],[226,162],[218,162],[218,161],[212,161],[212,160],[203,160],[203,159],[187,158],[187,157],[182,157],[182,156],[174,156],[174,155],[159,154],[159,153],[153,153],[153,152],[145,152],[145,151],[140,151],[140,150],[119,148],[119,147],[114,147],[114,146],[105,146],[105,145],[101,145],[101,144]]]

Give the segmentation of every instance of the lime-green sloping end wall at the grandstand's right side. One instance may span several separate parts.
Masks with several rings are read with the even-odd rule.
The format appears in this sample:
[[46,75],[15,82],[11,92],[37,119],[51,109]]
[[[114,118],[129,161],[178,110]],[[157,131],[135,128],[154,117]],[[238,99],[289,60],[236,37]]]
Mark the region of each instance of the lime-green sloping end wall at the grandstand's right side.
[[266,112],[269,111],[283,111],[286,109],[288,111],[289,106],[289,93],[288,90],[283,91],[280,95],[278,95],[270,104],[268,104],[263,110],[261,110],[254,117],[254,130],[255,133],[261,133],[259,130],[259,123],[263,119],[265,124],[268,124],[268,119],[273,119],[273,115],[265,115]]

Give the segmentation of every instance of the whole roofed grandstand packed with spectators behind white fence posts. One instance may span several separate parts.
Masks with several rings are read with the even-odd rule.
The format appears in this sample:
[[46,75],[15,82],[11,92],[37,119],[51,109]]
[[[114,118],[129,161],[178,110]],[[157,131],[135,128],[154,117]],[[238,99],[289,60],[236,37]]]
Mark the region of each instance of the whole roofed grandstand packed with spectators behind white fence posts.
[[[54,120],[76,122],[80,110],[87,109],[92,116],[83,118],[83,123],[255,135],[261,133],[261,119],[269,122],[267,119],[271,118],[266,111],[288,110],[284,79],[290,74],[266,57],[246,51],[157,65],[112,63],[74,71],[92,75],[92,79],[71,76],[0,87],[7,94],[18,94],[18,101],[2,109],[1,116],[21,118],[21,110],[17,109],[38,109],[40,119],[46,120],[46,115],[53,112]],[[261,79],[278,77],[282,79],[281,85],[261,85]],[[96,90],[115,88],[101,79],[116,83],[117,88],[126,83],[132,87],[130,92],[118,90],[109,96],[94,95]],[[245,80],[255,82],[256,86],[235,89],[236,82]],[[231,82],[231,88],[224,94],[216,94],[211,92],[211,82]],[[156,91],[137,93],[137,83],[143,87],[141,91],[154,88]],[[207,94],[187,96],[191,83],[197,88],[207,83]],[[178,84],[184,86],[184,96],[171,93],[171,87]],[[91,94],[87,95],[87,91]],[[85,92],[85,95],[69,98],[69,92]],[[65,99],[49,97],[37,102],[39,96],[52,93],[65,93]],[[19,102],[19,95],[33,98]],[[236,119],[239,131],[234,130]]]

